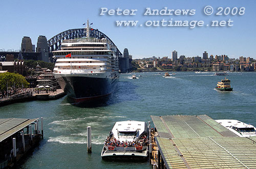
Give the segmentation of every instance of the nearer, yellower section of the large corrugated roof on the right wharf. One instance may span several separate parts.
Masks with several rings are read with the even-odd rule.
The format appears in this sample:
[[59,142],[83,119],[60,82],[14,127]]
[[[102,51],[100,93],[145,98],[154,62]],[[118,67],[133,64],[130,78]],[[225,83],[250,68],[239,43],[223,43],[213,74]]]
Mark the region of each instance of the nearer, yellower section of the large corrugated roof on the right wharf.
[[[186,168],[185,162],[190,168],[241,169],[256,166],[256,144],[246,137],[156,139],[168,168]],[[184,157],[184,160],[181,157]]]

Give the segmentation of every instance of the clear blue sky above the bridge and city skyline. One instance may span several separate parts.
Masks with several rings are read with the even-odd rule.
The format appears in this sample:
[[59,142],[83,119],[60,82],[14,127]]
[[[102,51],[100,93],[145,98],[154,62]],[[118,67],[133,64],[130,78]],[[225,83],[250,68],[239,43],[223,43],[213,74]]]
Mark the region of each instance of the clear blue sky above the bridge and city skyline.
[[[212,6],[214,14],[218,7],[245,7],[245,14],[207,16],[205,6]],[[99,15],[100,8],[137,9],[136,15]],[[146,8],[151,9],[195,9],[193,16],[145,16]],[[56,34],[82,27],[87,19],[93,22],[93,28],[106,34],[118,46],[120,51],[129,49],[133,58],[171,57],[173,50],[186,57],[202,56],[206,50],[210,54],[227,54],[230,58],[251,57],[255,55],[256,1],[186,1],[186,0],[62,0],[62,1],[3,1],[1,2],[1,41],[0,49],[19,49],[24,36],[29,36],[36,45],[37,37],[47,39]],[[116,20],[138,20],[144,24],[147,20],[233,20],[233,26],[227,27],[124,27],[116,26]]]

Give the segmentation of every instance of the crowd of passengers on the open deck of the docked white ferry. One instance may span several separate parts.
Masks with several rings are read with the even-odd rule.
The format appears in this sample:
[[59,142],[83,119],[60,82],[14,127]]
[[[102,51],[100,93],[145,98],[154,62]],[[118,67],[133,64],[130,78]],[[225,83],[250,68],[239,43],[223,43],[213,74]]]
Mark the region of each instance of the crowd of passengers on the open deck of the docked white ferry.
[[105,146],[113,146],[113,147],[139,147],[139,146],[147,146],[148,139],[145,135],[141,135],[138,140],[134,140],[133,142],[120,142],[113,136],[108,136],[104,142]]

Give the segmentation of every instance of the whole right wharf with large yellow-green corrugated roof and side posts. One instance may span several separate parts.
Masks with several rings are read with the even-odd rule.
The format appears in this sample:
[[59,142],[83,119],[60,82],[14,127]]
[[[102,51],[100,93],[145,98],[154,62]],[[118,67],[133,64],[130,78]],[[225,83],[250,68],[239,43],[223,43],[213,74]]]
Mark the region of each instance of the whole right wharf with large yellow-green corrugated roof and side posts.
[[239,137],[206,115],[151,118],[153,168],[256,166],[256,137]]

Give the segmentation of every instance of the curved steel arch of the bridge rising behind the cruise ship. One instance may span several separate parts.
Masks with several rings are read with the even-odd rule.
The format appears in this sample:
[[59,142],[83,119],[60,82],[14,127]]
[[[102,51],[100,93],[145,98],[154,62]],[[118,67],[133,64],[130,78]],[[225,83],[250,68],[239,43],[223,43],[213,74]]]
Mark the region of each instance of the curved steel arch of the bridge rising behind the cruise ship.
[[[63,31],[47,41],[49,51],[60,50],[62,40],[82,37],[86,37],[86,31],[84,30],[84,28]],[[100,32],[99,30],[90,30],[90,37],[99,39],[106,38],[108,41],[110,41],[111,45],[115,45],[114,42],[108,36]],[[116,54],[118,57],[123,57],[123,54],[120,52],[118,48]]]

